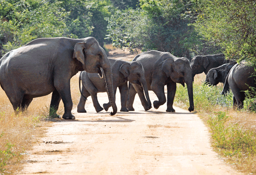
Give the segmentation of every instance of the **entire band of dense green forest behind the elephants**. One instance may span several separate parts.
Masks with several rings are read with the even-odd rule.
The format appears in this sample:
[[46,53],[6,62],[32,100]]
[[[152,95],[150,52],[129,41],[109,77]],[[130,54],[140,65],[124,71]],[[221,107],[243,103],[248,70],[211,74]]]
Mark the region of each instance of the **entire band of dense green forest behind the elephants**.
[[0,55],[43,37],[95,37],[136,53],[256,58],[255,0],[0,0]]

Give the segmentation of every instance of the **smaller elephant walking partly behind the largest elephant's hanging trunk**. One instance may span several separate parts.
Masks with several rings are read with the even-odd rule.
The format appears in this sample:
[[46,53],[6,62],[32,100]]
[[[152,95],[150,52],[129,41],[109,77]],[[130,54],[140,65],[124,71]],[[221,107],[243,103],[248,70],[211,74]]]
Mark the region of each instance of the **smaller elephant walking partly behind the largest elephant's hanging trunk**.
[[[115,60],[109,59],[111,70],[113,73],[113,89],[114,95],[116,95],[117,87],[119,88],[120,95],[121,95],[121,109],[122,112],[128,112],[126,108],[127,97],[128,97],[128,86],[127,81],[142,85],[145,96],[147,98],[146,103],[142,103],[144,109],[147,111],[151,106],[151,102],[148,95],[148,86],[144,76],[144,69],[139,62],[128,62],[124,60]],[[86,113],[84,109],[85,101],[87,97],[90,95],[92,96],[93,106],[96,112],[100,112],[103,108],[100,106],[97,93],[98,92],[106,92],[106,83],[103,77],[101,78],[97,73],[88,73],[88,72],[81,72],[79,76],[79,88],[80,88],[80,80],[82,81],[82,90],[80,101],[77,105],[77,112],[78,113]],[[81,89],[81,88],[80,88]],[[143,93],[144,96],[144,93]],[[144,98],[145,98],[144,96]],[[144,101],[143,101],[144,102]],[[110,102],[107,104],[103,104],[103,107],[106,111],[111,106]]]

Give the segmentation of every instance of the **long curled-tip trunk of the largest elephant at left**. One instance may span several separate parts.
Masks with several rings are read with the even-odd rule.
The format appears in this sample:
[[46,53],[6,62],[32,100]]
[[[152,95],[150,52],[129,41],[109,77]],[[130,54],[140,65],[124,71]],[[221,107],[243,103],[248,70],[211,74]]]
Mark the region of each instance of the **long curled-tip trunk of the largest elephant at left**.
[[110,100],[111,106],[113,108],[113,112],[110,115],[115,115],[117,113],[116,100],[114,96],[113,90],[113,81],[112,81],[112,71],[110,69],[110,63],[108,61],[107,56],[104,56],[106,59],[103,59],[103,62],[100,67],[102,67],[103,72],[105,74],[106,86],[108,91],[108,98]]

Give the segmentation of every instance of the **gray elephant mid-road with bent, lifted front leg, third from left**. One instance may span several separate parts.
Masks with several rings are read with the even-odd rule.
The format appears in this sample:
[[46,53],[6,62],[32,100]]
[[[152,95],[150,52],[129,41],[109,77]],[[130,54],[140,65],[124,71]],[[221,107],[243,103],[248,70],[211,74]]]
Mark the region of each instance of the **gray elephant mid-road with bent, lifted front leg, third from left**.
[[[138,61],[142,64],[145,77],[148,84],[148,90],[154,91],[158,100],[153,102],[155,109],[166,102],[164,86],[167,85],[167,109],[166,112],[175,112],[173,109],[173,100],[176,93],[176,83],[185,87],[188,86],[189,105],[188,111],[194,110],[193,84],[191,76],[191,67],[187,58],[178,58],[169,52],[159,52],[151,50],[135,56],[132,61]],[[142,88],[137,84],[132,84],[129,89],[127,109],[134,111],[133,101],[138,93],[140,99],[143,93]],[[145,99],[142,99],[143,101]]]

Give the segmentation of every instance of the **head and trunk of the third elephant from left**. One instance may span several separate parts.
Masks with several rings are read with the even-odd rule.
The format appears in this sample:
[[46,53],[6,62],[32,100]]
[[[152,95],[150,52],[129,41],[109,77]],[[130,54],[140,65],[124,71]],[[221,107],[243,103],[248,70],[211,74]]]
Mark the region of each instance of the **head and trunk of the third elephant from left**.
[[174,58],[166,59],[160,63],[161,69],[170,77],[175,83],[180,83],[185,87],[185,83],[188,87],[188,98],[189,98],[189,108],[188,111],[194,111],[194,99],[193,99],[193,80],[192,80],[192,70],[189,65],[187,58]]

